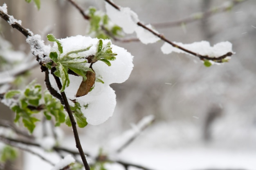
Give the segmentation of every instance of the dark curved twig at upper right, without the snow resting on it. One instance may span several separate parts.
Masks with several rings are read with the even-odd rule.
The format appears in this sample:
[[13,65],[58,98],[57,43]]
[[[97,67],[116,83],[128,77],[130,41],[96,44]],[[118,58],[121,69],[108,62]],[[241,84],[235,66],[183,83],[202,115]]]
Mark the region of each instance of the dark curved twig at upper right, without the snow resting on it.
[[[117,9],[118,11],[120,11],[121,9],[116,5],[114,4],[113,2],[111,2],[110,0],[105,0],[108,4],[110,4],[112,7],[114,7],[115,9]],[[185,49],[183,48],[182,46],[179,46],[173,42],[171,42],[170,40],[166,39],[162,34],[158,33],[157,31],[151,29],[149,26],[146,26],[144,25],[142,22],[138,21],[137,22],[137,25],[142,27],[143,29],[149,31],[150,33],[152,33],[153,35],[157,36],[158,38],[160,38],[161,40],[163,40],[164,42],[170,44],[171,46],[177,48],[177,49],[180,49],[182,51],[185,51],[186,53],[189,53],[191,55],[194,55],[195,57],[199,57],[200,60],[210,60],[210,61],[214,61],[214,62],[219,62],[219,63],[222,63],[223,62],[223,59],[225,59],[226,57],[229,57],[231,55],[233,55],[233,52],[228,52],[224,55],[221,55],[221,56],[211,56],[209,57],[208,55],[200,55],[198,53],[195,53],[194,51],[190,51],[188,49]]]

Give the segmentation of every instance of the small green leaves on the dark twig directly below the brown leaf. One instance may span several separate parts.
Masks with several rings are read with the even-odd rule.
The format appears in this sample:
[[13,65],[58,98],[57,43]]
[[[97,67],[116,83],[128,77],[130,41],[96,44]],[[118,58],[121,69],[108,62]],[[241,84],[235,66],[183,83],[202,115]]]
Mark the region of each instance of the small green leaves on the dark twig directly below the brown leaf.
[[[88,107],[88,105],[84,106],[85,109]],[[74,102],[74,106],[70,106],[73,115],[76,119],[76,123],[78,125],[79,128],[84,128],[88,123],[86,121],[86,118],[84,117],[82,111],[81,111],[81,106],[78,102]],[[67,116],[66,117],[66,124],[67,126],[71,126],[71,121],[70,118]]]

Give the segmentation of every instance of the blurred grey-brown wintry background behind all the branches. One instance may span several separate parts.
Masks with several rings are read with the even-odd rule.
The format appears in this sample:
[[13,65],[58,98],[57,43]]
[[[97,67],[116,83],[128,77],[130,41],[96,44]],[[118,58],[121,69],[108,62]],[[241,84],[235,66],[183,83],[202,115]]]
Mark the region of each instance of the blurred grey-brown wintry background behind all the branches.
[[[22,26],[42,37],[87,35],[87,20],[65,0],[42,0],[38,11],[25,0],[0,0],[8,13],[22,20]],[[83,9],[105,10],[103,0],[76,0]],[[147,115],[156,120],[119,157],[154,170],[246,169],[256,167],[256,1],[245,0],[230,10],[187,24],[160,26],[192,14],[227,5],[230,0],[115,0],[130,7],[144,23],[150,23],[168,40],[193,43],[207,40],[213,46],[222,41],[236,52],[228,63],[205,67],[189,55],[164,55],[163,42],[119,42],[134,56],[134,69],[123,84],[112,84],[117,94],[114,115],[104,124],[80,129],[85,150],[99,146],[108,150],[115,137]],[[25,37],[0,20],[1,35],[14,50],[29,55]],[[135,35],[128,35],[135,37]],[[43,84],[40,68],[29,79]],[[29,80],[28,80],[29,81]],[[0,105],[1,119],[12,119]],[[72,131],[63,127],[67,136]],[[63,142],[70,145],[73,139]],[[75,145],[74,145],[75,147]],[[32,159],[32,158],[30,158]],[[38,167],[37,167],[38,168]],[[25,169],[29,166],[25,166]]]

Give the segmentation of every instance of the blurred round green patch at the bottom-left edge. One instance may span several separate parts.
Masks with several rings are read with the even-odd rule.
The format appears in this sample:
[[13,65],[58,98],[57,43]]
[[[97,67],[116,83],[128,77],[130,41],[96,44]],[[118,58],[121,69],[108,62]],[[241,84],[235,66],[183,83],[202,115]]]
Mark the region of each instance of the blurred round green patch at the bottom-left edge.
[[0,151],[0,162],[12,161],[18,156],[17,150],[11,146],[6,145]]

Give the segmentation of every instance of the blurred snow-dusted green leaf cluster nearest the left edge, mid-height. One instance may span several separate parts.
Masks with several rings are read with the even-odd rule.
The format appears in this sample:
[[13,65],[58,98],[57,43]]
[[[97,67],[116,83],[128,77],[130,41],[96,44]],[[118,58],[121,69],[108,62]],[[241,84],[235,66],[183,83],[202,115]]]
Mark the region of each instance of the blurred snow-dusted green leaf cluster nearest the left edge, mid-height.
[[33,81],[24,91],[9,91],[4,97],[6,99],[11,99],[16,96],[18,96],[18,102],[11,105],[11,110],[16,113],[14,121],[18,122],[21,118],[24,126],[32,133],[36,127],[36,121],[39,121],[33,115],[39,112],[37,108],[42,97],[41,86],[35,84],[35,81]]

